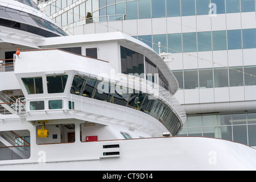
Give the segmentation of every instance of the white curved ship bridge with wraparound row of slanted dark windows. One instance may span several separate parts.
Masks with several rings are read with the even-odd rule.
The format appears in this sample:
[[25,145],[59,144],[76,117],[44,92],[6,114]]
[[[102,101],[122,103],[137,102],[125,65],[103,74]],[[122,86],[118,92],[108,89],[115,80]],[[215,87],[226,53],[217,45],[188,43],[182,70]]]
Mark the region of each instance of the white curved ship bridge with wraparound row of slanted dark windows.
[[186,119],[168,90],[118,73],[108,61],[59,49],[23,51],[15,57],[15,76],[25,97],[17,100],[17,114],[32,124],[100,123],[158,137],[177,135]]

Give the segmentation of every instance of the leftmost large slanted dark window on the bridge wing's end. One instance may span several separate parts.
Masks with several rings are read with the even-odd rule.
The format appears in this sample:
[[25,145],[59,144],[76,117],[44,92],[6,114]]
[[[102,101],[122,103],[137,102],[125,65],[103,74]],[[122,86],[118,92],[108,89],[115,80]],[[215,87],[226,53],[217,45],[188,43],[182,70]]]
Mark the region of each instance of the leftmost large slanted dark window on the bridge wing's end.
[[22,78],[22,81],[28,94],[43,93],[42,77]]

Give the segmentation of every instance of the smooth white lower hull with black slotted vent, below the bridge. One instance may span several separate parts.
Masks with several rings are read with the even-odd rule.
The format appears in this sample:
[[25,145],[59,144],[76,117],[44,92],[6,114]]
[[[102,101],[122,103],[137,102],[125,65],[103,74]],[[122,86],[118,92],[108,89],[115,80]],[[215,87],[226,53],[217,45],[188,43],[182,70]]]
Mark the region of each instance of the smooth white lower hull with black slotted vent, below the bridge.
[[[103,144],[119,144],[104,158]],[[117,149],[111,148],[114,151]],[[44,158],[45,157],[45,158]],[[0,162],[0,170],[255,170],[256,150],[202,137],[167,137],[31,146],[30,159]]]

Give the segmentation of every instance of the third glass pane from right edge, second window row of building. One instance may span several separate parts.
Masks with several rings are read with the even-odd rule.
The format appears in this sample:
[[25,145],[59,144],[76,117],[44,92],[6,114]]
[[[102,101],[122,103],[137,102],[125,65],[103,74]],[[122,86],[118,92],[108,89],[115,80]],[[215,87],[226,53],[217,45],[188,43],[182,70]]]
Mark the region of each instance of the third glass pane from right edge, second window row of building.
[[226,50],[226,31],[212,32],[213,51]]

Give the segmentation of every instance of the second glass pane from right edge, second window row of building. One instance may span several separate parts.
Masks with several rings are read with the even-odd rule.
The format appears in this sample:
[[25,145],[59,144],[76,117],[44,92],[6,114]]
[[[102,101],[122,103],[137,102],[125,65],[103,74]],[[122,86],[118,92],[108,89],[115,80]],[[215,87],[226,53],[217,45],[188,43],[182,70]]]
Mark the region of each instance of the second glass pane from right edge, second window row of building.
[[241,30],[228,30],[228,49],[241,49]]

